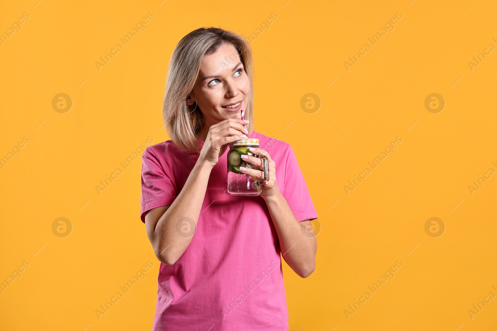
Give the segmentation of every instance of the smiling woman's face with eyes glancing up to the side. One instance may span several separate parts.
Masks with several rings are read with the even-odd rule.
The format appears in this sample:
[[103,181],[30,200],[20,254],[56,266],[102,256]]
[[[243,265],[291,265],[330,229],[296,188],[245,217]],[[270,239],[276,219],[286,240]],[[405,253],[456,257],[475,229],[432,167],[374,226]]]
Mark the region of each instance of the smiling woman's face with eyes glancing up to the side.
[[203,57],[187,103],[196,101],[211,126],[228,118],[240,119],[241,110],[247,109],[249,93],[250,82],[237,50],[232,44],[224,44]]

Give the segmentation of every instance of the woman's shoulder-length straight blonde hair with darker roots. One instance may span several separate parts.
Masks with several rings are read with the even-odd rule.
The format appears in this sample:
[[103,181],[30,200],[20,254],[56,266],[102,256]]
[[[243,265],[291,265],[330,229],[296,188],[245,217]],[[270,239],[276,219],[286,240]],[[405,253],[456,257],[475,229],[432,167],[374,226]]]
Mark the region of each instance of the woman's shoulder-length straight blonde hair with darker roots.
[[245,109],[248,133],[253,128],[253,60],[252,51],[245,38],[231,31],[214,27],[202,27],[181,38],[172,52],[167,72],[164,93],[163,117],[166,132],[180,149],[200,151],[197,134],[205,121],[196,101],[186,104],[200,70],[200,63],[206,54],[215,53],[223,44],[235,47],[244,65],[250,82],[250,92]]

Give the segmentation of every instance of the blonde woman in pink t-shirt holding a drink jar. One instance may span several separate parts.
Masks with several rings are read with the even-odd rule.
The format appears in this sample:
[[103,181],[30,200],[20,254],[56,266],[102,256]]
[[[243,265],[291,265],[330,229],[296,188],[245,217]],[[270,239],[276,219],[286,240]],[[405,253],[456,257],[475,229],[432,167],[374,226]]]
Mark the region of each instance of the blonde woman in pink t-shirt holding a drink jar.
[[[314,271],[316,235],[302,221],[318,214],[292,147],[252,130],[252,72],[247,41],[218,28],[188,33],[172,53],[171,139],[142,165],[141,219],[162,262],[153,330],[288,330],[280,253],[299,276]],[[260,196],[232,197],[227,144],[247,137],[259,139],[269,180]],[[253,169],[240,170],[262,180],[261,160],[245,161]]]

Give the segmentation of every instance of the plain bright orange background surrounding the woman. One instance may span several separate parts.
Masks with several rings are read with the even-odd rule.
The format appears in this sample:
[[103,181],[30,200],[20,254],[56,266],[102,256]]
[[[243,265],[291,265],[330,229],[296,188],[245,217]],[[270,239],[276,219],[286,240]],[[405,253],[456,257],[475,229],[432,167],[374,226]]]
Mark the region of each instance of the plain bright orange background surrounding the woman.
[[[468,310],[497,295],[497,176],[473,195],[468,186],[497,170],[497,54],[468,62],[497,46],[496,4],[373,2],[4,3],[0,32],[29,18],[0,46],[0,157],[29,142],[0,170],[0,280],[29,266],[0,294],[1,329],[150,330],[159,262],[139,218],[141,157],[100,195],[95,186],[147,137],[168,139],[164,80],[182,36],[206,25],[248,36],[274,12],[252,44],[255,130],[293,146],[322,228],[309,278],[283,263],[290,330],[493,330],[496,300],[473,319]],[[98,70],[149,12],[146,30]],[[52,107],[58,93],[73,102],[64,114]],[[301,108],[307,93],[319,110]],[[431,93],[445,100],[437,114],[424,106]],[[396,137],[395,153],[347,195]],[[73,226],[65,238],[52,231],[58,217]],[[424,228],[431,217],[445,225],[436,238]],[[98,319],[147,261],[146,278]],[[396,261],[395,277],[347,319]]]

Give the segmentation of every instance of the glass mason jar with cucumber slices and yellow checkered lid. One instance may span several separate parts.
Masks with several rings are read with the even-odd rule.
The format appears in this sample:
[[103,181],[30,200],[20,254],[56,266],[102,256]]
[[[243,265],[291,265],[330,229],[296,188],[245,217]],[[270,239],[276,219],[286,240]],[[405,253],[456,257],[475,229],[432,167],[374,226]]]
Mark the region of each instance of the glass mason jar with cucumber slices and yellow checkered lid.
[[[243,138],[228,144],[228,194],[232,197],[248,196],[256,197],[260,195],[262,189],[260,185],[269,180],[269,160],[265,155],[255,155],[250,152],[250,147],[259,147],[259,139]],[[242,155],[255,156],[262,160],[264,178],[258,181],[256,177],[240,172],[240,167],[247,169],[258,169],[252,164],[245,162]]]

